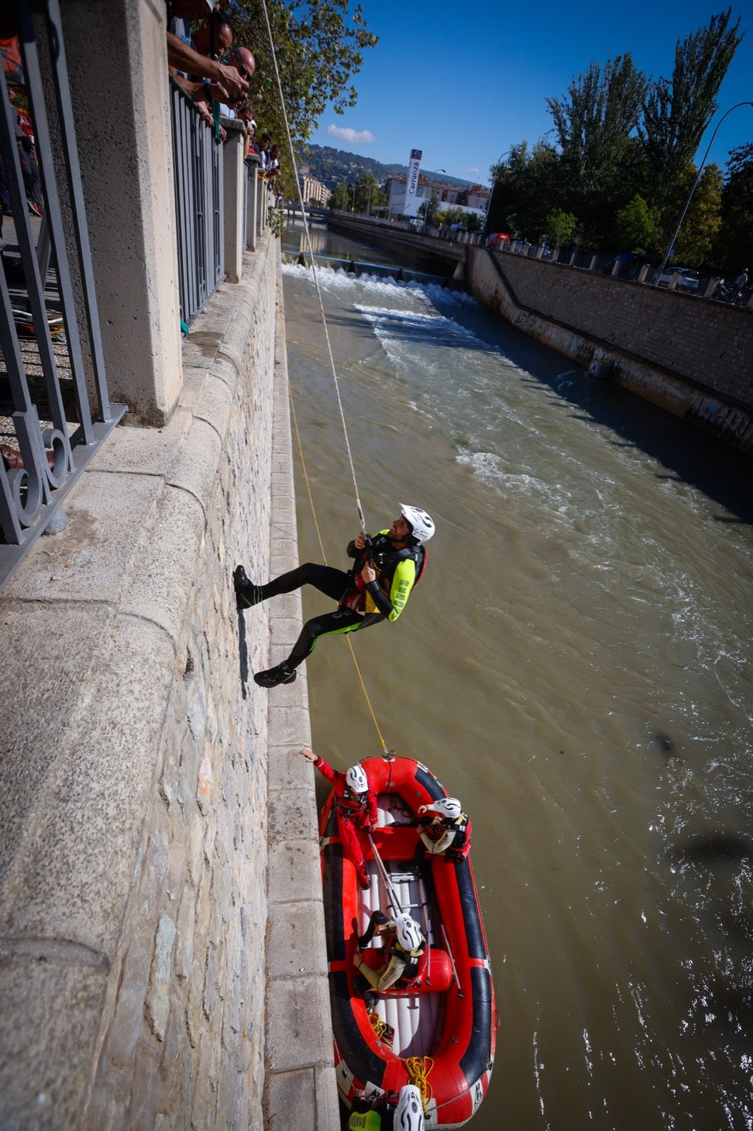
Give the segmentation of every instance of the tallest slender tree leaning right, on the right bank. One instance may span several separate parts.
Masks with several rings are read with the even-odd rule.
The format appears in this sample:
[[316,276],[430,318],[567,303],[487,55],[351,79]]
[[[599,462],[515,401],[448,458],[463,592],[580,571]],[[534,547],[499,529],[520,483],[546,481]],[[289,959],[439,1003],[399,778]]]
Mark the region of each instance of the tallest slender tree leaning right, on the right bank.
[[660,207],[672,193],[676,196],[676,182],[718,110],[719,87],[743,37],[737,34],[739,19],[733,26],[730,20],[728,8],[712,16],[708,27],[677,40],[672,79],[659,78],[650,85],[640,132],[651,202]]

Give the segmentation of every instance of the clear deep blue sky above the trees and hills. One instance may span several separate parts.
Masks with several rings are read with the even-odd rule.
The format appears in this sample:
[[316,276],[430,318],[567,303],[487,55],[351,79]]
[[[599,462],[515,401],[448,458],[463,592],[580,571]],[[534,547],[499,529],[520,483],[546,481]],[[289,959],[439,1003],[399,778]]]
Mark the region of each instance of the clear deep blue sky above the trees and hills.
[[[551,129],[546,96],[565,94],[591,60],[630,52],[644,74],[669,78],[676,41],[726,8],[703,0],[539,0],[531,8],[490,0],[362,3],[380,42],[354,79],[358,103],[344,115],[326,113],[311,140],[384,163],[407,164],[410,149],[422,149],[424,170],[486,183],[490,165],[511,145],[536,141]],[[753,102],[753,10],[734,6],[733,19],[738,15],[746,34],[699,161],[721,114]],[[753,106],[741,106],[722,122],[709,159],[724,167],[728,150],[751,140]]]

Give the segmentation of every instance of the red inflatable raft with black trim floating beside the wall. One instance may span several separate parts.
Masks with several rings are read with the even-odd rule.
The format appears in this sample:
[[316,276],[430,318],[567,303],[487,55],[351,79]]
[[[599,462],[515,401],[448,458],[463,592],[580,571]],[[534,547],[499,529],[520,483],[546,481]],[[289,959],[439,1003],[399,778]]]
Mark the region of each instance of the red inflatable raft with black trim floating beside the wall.
[[[321,858],[327,957],[335,1036],[335,1065],[347,1107],[356,1088],[397,1096],[405,1083],[422,1091],[427,1128],[466,1123],[486,1094],[495,1046],[492,970],[470,860],[443,856],[415,860],[415,828],[400,828],[447,793],[434,775],[412,758],[366,758],[361,763],[379,800],[376,855],[366,867],[364,891],[344,858],[332,795],[321,813]],[[372,910],[388,915],[398,903],[429,936],[424,983],[416,990],[379,994],[367,1015],[354,994],[353,953]],[[379,940],[364,961],[379,965]]]

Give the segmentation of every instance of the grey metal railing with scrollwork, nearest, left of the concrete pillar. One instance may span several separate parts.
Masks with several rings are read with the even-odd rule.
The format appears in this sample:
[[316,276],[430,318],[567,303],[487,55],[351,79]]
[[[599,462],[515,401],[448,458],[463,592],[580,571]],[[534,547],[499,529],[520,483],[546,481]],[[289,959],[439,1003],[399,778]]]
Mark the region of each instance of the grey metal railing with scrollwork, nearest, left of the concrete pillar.
[[0,586],[126,412],[107,394],[58,0],[21,0],[18,11],[34,149],[21,145],[38,157],[44,215],[29,217],[3,74],[12,233],[3,232],[0,270]]

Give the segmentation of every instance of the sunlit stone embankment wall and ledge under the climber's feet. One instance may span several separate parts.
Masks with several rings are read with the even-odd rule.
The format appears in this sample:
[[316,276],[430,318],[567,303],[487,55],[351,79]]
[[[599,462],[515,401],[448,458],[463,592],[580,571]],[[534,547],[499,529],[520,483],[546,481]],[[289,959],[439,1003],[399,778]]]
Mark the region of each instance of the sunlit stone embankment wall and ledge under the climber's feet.
[[0,597],[0,1124],[337,1126],[276,241]]

